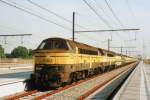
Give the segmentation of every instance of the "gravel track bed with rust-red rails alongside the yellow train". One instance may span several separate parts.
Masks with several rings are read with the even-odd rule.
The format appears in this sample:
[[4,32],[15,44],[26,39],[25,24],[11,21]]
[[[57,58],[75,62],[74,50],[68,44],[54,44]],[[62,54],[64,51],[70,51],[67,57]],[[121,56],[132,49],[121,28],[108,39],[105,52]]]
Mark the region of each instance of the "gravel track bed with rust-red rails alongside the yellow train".
[[97,89],[101,88],[108,82],[115,79],[118,75],[125,73],[128,70],[131,70],[133,66],[137,63],[129,64],[124,67],[120,67],[118,69],[112,70],[107,73],[103,73],[100,75],[96,75],[92,78],[88,78],[86,80],[81,80],[75,82],[71,85],[67,85],[65,87],[60,87],[57,90],[49,90],[45,92],[40,92],[37,90],[24,92],[22,94],[18,94],[15,96],[11,96],[6,98],[7,100],[83,100],[92,94]]

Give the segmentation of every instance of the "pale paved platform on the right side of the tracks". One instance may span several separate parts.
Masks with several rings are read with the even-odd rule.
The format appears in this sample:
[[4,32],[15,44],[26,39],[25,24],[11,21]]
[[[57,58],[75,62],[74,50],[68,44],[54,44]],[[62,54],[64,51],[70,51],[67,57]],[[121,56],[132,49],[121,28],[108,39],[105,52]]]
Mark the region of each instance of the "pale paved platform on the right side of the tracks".
[[150,65],[141,62],[113,100],[150,100]]

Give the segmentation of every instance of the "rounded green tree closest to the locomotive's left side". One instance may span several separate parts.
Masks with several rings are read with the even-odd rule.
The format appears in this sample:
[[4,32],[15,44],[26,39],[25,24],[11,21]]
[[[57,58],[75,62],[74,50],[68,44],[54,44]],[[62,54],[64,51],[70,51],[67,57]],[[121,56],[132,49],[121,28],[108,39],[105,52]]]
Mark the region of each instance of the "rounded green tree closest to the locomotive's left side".
[[18,46],[17,48],[14,48],[11,52],[12,57],[14,58],[28,58],[29,52],[26,47]]

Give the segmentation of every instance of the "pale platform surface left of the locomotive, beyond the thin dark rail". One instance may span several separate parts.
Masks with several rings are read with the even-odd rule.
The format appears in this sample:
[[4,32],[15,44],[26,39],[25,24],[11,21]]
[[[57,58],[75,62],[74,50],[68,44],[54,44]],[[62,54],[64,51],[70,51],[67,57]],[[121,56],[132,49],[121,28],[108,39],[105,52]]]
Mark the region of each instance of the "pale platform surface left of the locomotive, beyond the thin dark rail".
[[[7,66],[8,65],[6,65],[6,67]],[[13,67],[11,67],[10,69],[0,68],[0,85],[16,81],[23,81],[29,78],[32,71],[33,71],[32,65],[28,64],[13,65]]]

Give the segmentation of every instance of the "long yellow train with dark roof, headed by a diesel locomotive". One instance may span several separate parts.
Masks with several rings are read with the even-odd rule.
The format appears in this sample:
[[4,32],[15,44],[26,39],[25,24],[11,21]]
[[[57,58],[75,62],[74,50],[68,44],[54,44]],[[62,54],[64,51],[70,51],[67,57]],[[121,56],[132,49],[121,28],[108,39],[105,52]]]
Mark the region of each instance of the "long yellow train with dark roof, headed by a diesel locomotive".
[[35,50],[31,80],[40,86],[58,86],[110,71],[132,58],[63,38],[48,38]]

